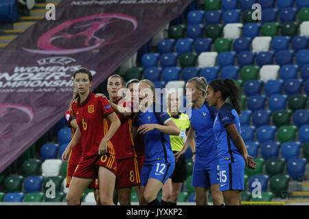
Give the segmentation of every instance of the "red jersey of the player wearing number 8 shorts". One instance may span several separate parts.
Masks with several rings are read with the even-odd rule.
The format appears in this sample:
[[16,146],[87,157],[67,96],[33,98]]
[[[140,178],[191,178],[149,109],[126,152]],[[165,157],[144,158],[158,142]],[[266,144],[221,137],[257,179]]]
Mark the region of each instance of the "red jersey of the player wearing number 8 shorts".
[[[121,99],[122,98],[113,103],[117,105]],[[133,112],[133,103],[130,101],[122,103],[122,107],[126,107],[128,104],[131,105],[130,107]],[[128,157],[136,157],[135,149],[133,146],[133,137],[131,133],[133,116],[125,117],[118,114],[117,116],[122,125],[119,127],[113,138],[111,138],[111,142],[115,146],[116,158],[124,159]],[[108,122],[108,126],[109,124],[110,123]]]

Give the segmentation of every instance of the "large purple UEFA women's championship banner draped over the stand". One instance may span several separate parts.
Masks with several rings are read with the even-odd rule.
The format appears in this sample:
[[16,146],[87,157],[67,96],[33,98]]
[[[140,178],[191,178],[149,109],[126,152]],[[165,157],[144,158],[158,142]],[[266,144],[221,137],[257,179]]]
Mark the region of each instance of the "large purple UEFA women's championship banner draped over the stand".
[[93,88],[183,12],[192,0],[71,0],[0,52],[0,172],[56,124],[73,96],[72,75]]

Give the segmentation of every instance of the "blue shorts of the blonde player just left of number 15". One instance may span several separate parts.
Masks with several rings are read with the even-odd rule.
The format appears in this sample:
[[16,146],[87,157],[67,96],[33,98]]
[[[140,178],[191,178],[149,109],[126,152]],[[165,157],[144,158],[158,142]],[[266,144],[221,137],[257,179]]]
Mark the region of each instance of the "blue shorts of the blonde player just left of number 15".
[[210,185],[219,184],[218,160],[211,163],[194,162],[192,172],[192,186],[209,188]]

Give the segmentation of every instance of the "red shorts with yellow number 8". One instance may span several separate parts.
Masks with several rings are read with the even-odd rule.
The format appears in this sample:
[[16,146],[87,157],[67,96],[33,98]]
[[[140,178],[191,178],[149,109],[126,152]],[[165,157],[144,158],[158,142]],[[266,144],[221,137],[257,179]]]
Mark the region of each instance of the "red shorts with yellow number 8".
[[130,157],[117,159],[116,189],[131,188],[141,183],[137,159]]

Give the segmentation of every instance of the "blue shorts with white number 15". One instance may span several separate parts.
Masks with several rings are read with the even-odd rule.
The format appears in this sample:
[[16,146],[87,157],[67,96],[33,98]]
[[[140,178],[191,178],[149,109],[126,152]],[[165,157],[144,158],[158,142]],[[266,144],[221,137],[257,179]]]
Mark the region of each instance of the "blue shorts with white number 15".
[[220,191],[244,190],[244,159],[230,164],[220,164]]

